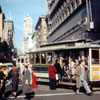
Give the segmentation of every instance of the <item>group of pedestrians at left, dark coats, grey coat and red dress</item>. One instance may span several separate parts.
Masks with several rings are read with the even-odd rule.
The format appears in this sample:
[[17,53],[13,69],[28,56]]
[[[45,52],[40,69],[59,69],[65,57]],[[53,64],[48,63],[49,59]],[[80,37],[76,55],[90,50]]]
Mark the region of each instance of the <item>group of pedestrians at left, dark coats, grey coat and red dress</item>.
[[4,74],[3,68],[0,68],[0,97],[4,98],[5,82],[9,80],[12,85],[12,95],[15,98],[17,98],[18,84],[21,82],[25,100],[30,99],[30,94],[33,92],[33,89],[37,88],[36,80],[38,77],[35,76],[35,71],[31,65],[23,65],[21,67],[23,67],[23,69],[13,66],[7,77]]

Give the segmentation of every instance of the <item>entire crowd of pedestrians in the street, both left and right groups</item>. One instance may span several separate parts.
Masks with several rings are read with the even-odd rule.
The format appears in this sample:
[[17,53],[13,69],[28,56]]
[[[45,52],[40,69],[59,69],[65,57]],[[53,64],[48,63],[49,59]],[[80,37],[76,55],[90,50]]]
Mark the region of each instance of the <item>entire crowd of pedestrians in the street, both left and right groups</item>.
[[[88,61],[82,56],[80,60],[78,59],[70,59],[68,63],[68,59],[62,60],[56,59],[55,63],[51,62],[48,67],[49,74],[49,87],[50,90],[55,90],[57,86],[59,86],[62,82],[62,76],[68,78],[76,79],[76,94],[78,95],[80,92],[80,87],[84,86],[86,93],[88,95],[92,94],[92,91],[88,85],[89,77],[88,77]],[[67,61],[63,64],[60,61]],[[21,66],[22,68],[22,66]],[[3,73],[3,68],[0,68],[0,96],[4,97],[5,91],[5,82],[6,80],[10,80],[12,84],[12,95],[16,98],[18,92],[18,84],[22,82],[22,91],[25,94],[25,99],[29,99],[29,95],[32,92],[32,89],[37,88],[36,80],[38,77],[35,75],[35,71],[32,68],[32,65],[23,65],[23,69],[20,70],[13,66],[12,70],[9,71],[8,77]]]

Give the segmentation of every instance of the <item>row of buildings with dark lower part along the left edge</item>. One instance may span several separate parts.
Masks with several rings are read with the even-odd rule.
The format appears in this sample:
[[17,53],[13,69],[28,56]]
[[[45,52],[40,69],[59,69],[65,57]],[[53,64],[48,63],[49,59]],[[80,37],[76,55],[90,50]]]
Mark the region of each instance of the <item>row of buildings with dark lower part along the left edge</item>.
[[14,23],[5,19],[0,6],[0,62],[12,62],[16,54]]

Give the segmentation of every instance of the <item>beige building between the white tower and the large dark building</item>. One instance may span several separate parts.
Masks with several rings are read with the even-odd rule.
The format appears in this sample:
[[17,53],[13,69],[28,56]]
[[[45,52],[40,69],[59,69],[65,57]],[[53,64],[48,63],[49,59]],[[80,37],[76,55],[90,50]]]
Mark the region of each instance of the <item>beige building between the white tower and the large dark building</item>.
[[40,45],[47,43],[47,24],[46,24],[46,16],[40,16],[36,27],[35,27],[35,36],[37,41],[37,47]]

